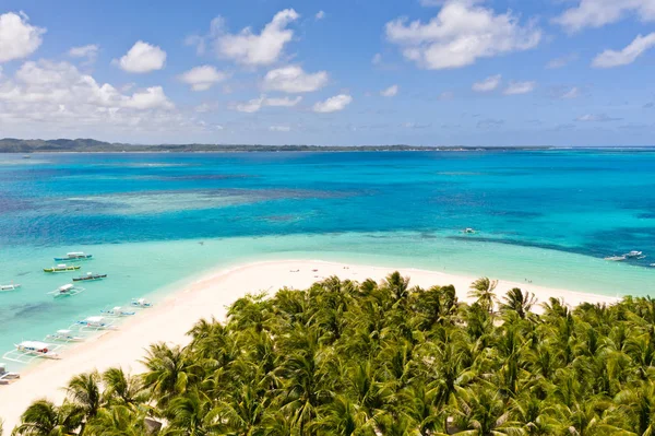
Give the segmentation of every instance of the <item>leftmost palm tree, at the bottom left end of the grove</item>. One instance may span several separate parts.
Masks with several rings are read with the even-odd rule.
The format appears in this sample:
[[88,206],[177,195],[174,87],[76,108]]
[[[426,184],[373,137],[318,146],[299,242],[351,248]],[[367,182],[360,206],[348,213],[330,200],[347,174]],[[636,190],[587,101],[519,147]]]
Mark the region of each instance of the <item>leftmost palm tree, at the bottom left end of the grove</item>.
[[82,425],[83,413],[72,404],[55,405],[48,400],[33,402],[21,415],[14,428],[16,436],[64,436],[74,435]]

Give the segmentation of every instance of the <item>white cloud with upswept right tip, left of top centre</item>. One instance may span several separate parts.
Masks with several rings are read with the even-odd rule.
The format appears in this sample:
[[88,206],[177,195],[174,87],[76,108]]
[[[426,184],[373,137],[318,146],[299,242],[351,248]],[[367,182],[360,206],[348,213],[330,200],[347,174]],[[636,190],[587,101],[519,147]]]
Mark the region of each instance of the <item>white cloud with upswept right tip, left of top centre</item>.
[[212,22],[211,36],[218,55],[246,66],[269,66],[282,56],[284,46],[294,37],[294,31],[287,26],[300,15],[293,9],[285,9],[273,16],[258,35],[250,27],[238,34],[229,34],[224,30],[222,19]]

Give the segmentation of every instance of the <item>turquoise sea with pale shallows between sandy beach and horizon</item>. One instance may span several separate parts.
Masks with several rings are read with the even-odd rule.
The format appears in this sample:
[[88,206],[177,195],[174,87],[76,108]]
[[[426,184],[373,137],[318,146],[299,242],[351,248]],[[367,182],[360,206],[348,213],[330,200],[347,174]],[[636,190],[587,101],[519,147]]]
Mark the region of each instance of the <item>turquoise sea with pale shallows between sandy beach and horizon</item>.
[[[55,301],[79,273],[41,269],[73,250],[109,278]],[[646,258],[603,260],[630,250]],[[203,271],[288,258],[646,295],[655,151],[0,154],[0,284],[23,285],[0,293],[0,355]]]

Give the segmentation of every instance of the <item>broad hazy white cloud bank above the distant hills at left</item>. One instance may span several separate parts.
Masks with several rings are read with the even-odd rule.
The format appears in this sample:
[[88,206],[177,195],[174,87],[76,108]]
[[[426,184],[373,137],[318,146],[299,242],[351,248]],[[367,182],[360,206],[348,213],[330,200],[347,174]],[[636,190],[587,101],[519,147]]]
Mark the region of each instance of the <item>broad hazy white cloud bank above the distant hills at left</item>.
[[160,86],[123,93],[98,83],[69,62],[27,61],[0,79],[0,123],[4,132],[71,135],[170,131],[196,126]]

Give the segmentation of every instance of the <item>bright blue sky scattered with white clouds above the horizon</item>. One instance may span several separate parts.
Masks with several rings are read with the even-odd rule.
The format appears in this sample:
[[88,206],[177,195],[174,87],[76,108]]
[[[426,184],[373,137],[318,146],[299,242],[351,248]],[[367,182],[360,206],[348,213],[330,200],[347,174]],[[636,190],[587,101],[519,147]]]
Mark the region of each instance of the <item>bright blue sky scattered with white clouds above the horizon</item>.
[[643,145],[655,0],[4,0],[0,137]]

